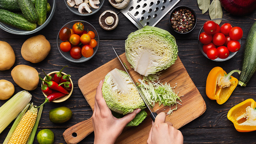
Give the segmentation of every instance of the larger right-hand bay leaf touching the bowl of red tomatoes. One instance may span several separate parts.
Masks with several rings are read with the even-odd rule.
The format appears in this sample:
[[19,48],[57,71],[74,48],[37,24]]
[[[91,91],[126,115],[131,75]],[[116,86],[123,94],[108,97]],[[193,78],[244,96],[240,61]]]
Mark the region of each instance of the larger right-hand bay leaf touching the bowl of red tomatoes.
[[[215,19],[215,18],[222,18],[222,7],[221,7],[221,2],[219,2],[219,0],[213,0],[211,2],[211,5],[209,7],[209,15],[211,19]],[[215,20],[214,21],[217,24],[221,23],[221,20]]]

